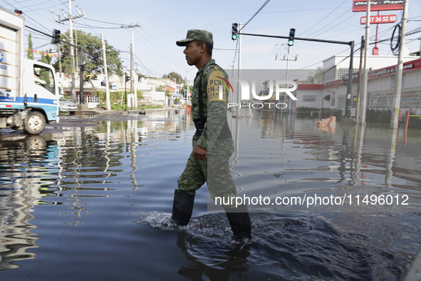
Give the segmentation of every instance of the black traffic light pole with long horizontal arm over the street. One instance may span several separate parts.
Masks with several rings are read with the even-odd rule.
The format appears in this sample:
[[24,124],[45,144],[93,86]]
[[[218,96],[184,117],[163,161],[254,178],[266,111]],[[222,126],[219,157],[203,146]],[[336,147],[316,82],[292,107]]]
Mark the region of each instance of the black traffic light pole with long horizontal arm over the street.
[[[269,38],[280,38],[280,39],[289,39],[289,36],[274,36],[274,35],[265,35],[265,34],[244,34],[239,33],[238,35],[248,35],[248,36],[259,36],[259,37],[269,37]],[[313,41],[313,42],[322,42],[330,44],[342,44],[350,46],[350,63],[348,71],[348,88],[346,92],[346,106],[345,106],[345,118],[350,118],[350,109],[351,109],[351,96],[352,96],[352,84],[353,84],[353,58],[354,58],[354,41],[334,41],[334,40],[323,40],[323,39],[313,39],[313,38],[300,38],[294,37],[296,40],[301,41]]]

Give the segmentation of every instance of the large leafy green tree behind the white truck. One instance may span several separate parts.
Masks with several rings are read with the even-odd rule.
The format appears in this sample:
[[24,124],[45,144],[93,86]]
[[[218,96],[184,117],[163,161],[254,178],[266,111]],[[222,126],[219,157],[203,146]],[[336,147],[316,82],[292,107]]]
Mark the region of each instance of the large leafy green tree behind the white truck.
[[[84,31],[77,30],[73,32],[74,41],[76,42],[76,33],[78,34],[78,44],[77,46],[83,47],[83,56],[85,59],[86,67],[84,71],[85,81],[89,81],[92,85],[91,78],[95,79],[99,73],[104,73],[104,64],[103,64],[103,43],[99,36],[93,36],[92,34],[86,33]],[[66,32],[66,36],[69,36],[69,33]],[[113,46],[110,46],[105,42],[105,49],[107,52],[107,70],[108,78],[117,74],[118,76],[123,76],[122,71],[122,61],[120,60],[120,51],[116,50]],[[75,51],[78,51],[75,50]],[[80,56],[78,56],[78,61],[75,61],[75,67],[79,65]],[[55,68],[58,68],[58,61],[54,64]],[[61,53],[61,68],[63,73],[71,75],[71,56],[70,48],[67,44],[63,46],[63,53]],[[95,87],[93,87],[95,89]]]

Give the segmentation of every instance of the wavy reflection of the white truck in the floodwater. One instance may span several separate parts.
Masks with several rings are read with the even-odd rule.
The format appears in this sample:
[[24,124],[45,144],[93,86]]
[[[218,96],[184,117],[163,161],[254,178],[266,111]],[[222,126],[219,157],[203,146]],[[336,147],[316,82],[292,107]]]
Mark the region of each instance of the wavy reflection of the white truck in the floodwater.
[[[48,147],[52,149],[47,149]],[[54,204],[58,196],[58,148],[43,136],[11,136],[0,141],[0,270],[30,260],[39,239],[31,213],[37,205]]]

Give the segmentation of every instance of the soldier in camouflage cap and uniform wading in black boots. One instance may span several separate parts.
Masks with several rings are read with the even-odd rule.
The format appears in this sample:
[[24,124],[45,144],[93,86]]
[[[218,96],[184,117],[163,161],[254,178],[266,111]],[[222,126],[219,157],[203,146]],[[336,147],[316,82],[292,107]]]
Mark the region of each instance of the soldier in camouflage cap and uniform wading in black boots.
[[[208,53],[203,53],[201,44],[190,44],[192,41],[207,43]],[[187,63],[199,66],[209,58],[214,44],[212,34],[204,30],[187,31],[186,39],[177,41],[178,46],[186,46]],[[209,49],[210,48],[210,49]],[[192,55],[192,57],[190,57]],[[227,101],[229,82],[227,73],[210,59],[197,72],[194,78],[192,95],[192,118],[196,133],[193,136],[193,151],[187,160],[186,168],[178,179],[178,188],[174,192],[172,220],[177,225],[187,225],[192,218],[194,195],[205,182],[212,199],[222,199],[229,225],[238,239],[251,237],[251,221],[246,205],[236,206],[237,196],[234,180],[229,170],[229,156],[234,152],[231,131],[227,122]],[[227,85],[228,84],[228,85]],[[231,86],[231,85],[229,85]],[[194,148],[198,145],[207,150],[207,158],[194,159]],[[204,151],[197,151],[199,158]],[[234,203],[234,204],[232,204]]]

